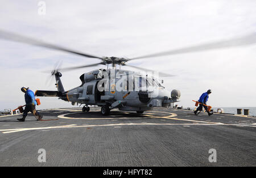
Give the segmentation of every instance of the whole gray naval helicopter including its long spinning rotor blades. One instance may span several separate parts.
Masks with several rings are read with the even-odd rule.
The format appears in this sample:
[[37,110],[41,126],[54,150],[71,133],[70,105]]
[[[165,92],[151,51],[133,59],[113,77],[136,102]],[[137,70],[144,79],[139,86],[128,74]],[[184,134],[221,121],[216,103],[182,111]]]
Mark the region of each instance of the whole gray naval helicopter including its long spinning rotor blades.
[[[172,103],[176,103],[180,99],[181,95],[179,90],[167,90],[162,85],[163,80],[161,81],[159,79],[160,75],[163,77],[172,77],[174,75],[127,65],[127,62],[131,60],[250,45],[256,42],[255,33],[253,33],[234,39],[169,50],[167,52],[149,54],[146,56],[120,58],[98,57],[92,54],[81,53],[76,50],[44,43],[39,40],[31,39],[30,37],[2,30],[0,30],[0,39],[42,46],[48,49],[61,50],[63,52],[101,60],[101,62],[89,65],[67,68],[57,67],[56,69],[53,69],[51,71],[51,76],[55,77],[57,91],[36,90],[35,96],[58,97],[61,100],[71,102],[72,105],[84,104],[82,112],[90,111],[88,105],[97,105],[98,107],[101,107],[101,114],[104,116],[109,115],[110,111],[114,108],[118,108],[120,111],[135,111],[138,114],[142,114],[144,111],[149,111],[155,107],[169,107]],[[64,90],[60,79],[62,77],[60,71],[75,70],[98,65],[105,65],[107,66],[107,69],[96,69],[84,73],[80,76],[81,84],[78,87],[67,91]],[[109,65],[112,65],[112,69],[109,69]],[[119,69],[117,69],[117,65],[119,65]],[[147,71],[147,73],[142,74],[135,71],[121,70],[121,66],[134,67],[141,71]]]

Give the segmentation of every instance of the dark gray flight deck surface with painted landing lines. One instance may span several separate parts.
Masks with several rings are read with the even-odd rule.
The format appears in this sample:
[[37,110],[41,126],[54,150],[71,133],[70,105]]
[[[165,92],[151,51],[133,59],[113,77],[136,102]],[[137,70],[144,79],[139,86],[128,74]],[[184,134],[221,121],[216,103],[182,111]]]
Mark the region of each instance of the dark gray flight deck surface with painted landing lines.
[[[171,108],[40,113],[49,121],[0,117],[0,166],[256,166],[254,117]],[[38,162],[39,149],[46,150],[45,163]],[[209,162],[210,149],[217,162]]]

